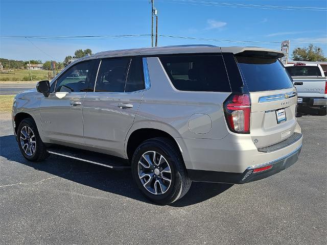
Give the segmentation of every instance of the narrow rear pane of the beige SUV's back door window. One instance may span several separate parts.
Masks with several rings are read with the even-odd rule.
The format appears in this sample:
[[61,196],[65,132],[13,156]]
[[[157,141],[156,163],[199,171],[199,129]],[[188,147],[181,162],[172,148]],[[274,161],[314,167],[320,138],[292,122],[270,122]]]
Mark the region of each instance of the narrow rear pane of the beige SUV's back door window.
[[141,57],[132,58],[131,64],[128,69],[126,80],[125,92],[133,92],[145,88],[143,64]]

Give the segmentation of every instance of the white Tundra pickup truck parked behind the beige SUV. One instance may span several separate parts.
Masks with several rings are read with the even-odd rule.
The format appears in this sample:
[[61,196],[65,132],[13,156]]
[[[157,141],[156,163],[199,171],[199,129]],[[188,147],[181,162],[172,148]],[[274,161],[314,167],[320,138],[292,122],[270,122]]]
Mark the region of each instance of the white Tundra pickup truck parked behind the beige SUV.
[[297,89],[297,105],[318,109],[327,114],[327,81],[319,64],[295,63],[285,65]]

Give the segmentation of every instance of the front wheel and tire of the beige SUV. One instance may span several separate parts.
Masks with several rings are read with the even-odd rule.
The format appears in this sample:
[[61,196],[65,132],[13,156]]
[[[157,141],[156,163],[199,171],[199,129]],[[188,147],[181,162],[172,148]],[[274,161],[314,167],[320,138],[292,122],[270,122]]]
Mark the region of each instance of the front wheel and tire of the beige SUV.
[[21,154],[29,161],[42,161],[49,156],[33,118],[26,118],[20,122],[17,141]]

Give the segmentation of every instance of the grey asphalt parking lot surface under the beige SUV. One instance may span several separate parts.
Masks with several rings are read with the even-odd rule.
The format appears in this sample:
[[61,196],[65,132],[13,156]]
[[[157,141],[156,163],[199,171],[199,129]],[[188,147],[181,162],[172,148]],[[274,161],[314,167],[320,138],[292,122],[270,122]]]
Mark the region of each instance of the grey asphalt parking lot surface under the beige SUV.
[[244,185],[192,183],[149,203],[129,170],[59,156],[28,162],[11,121],[0,132],[1,244],[326,244],[327,116],[298,118],[297,163]]

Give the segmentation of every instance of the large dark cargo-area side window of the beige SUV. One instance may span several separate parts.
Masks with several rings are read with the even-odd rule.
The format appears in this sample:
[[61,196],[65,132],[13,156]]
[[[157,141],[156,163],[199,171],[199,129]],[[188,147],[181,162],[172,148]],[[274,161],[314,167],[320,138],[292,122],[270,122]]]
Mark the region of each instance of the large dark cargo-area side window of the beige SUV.
[[160,61],[178,90],[230,92],[224,61],[219,55],[165,56]]

